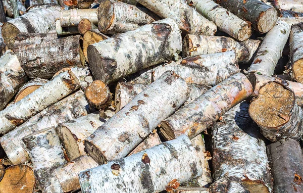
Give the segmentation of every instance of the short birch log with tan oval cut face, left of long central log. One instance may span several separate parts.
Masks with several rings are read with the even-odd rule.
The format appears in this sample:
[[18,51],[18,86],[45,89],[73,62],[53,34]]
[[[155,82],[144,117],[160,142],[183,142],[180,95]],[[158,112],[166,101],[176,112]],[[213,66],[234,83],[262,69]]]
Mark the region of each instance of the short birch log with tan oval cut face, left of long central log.
[[61,123],[56,131],[66,151],[69,160],[86,155],[83,140],[91,135],[99,126],[105,123],[105,119],[99,117],[99,113],[89,115]]

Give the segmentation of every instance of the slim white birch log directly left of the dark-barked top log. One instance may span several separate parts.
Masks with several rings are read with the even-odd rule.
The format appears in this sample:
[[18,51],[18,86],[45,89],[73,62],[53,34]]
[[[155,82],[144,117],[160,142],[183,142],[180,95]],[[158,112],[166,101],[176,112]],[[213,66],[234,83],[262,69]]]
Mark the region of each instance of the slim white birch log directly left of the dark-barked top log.
[[191,2],[196,11],[208,20],[214,22],[219,30],[239,41],[245,41],[250,37],[250,24],[241,20],[212,0],[187,0],[187,3],[190,4]]

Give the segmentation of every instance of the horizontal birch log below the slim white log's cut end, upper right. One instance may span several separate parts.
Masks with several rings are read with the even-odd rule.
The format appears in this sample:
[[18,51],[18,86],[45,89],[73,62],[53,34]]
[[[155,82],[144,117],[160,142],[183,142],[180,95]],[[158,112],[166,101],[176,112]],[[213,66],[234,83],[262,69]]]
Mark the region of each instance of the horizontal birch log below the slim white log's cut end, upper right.
[[247,39],[237,42],[224,36],[202,36],[187,34],[183,39],[183,57],[193,57],[235,50],[239,63],[248,62],[260,44],[260,40]]

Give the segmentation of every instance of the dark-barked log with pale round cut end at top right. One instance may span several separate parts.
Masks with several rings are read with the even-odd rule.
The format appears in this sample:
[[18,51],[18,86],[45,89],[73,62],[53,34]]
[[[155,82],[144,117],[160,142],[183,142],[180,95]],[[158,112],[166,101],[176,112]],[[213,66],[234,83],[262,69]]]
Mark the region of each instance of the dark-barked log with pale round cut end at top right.
[[216,2],[239,18],[250,22],[251,26],[261,33],[271,30],[278,18],[275,8],[259,0],[216,0]]

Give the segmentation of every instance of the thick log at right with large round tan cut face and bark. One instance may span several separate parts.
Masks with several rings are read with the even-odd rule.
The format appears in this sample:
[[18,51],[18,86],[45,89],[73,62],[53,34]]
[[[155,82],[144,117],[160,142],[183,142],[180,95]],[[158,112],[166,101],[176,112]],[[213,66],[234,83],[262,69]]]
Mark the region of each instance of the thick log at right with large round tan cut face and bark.
[[303,110],[297,105],[294,92],[281,83],[262,86],[258,98],[249,106],[249,115],[273,142],[286,137],[298,140],[303,134]]

